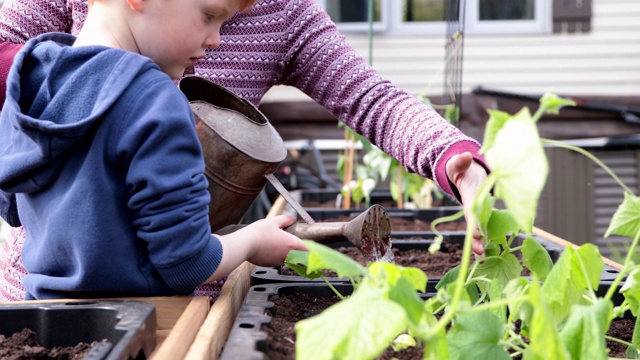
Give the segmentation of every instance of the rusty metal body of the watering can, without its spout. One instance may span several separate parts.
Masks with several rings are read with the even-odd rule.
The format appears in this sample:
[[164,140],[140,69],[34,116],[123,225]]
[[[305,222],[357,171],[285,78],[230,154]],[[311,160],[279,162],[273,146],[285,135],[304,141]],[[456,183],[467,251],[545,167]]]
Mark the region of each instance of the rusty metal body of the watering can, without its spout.
[[250,103],[201,78],[184,78],[209,182],[212,232],[242,221],[264,188],[265,174],[286,158],[282,138]]

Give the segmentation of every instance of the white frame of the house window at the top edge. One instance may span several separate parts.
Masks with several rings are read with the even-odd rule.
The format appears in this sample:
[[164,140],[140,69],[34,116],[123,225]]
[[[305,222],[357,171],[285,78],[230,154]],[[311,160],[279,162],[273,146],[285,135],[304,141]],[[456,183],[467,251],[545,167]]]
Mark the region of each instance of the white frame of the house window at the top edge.
[[[327,1],[316,0],[320,6],[326,8]],[[349,1],[349,0],[346,0]],[[478,11],[479,0],[466,0],[465,8],[461,9],[461,18],[465,19],[465,35],[520,35],[520,34],[550,34],[553,30],[552,1],[534,0],[535,12],[533,20],[480,20]],[[402,21],[402,1],[381,0],[380,21],[373,24],[376,33],[389,35],[444,35],[445,21],[434,22],[404,22]],[[369,24],[337,23],[342,32],[367,32]]]

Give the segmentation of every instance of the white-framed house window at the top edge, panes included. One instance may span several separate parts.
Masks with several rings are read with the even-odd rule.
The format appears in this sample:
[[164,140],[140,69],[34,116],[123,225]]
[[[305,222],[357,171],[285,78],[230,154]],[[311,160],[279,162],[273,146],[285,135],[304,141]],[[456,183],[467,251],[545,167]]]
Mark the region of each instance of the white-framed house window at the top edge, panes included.
[[[341,31],[368,31],[369,0],[317,0]],[[442,35],[447,11],[465,19],[465,33],[543,34],[552,30],[549,0],[374,0],[376,32],[399,35]],[[447,9],[447,7],[449,7]]]

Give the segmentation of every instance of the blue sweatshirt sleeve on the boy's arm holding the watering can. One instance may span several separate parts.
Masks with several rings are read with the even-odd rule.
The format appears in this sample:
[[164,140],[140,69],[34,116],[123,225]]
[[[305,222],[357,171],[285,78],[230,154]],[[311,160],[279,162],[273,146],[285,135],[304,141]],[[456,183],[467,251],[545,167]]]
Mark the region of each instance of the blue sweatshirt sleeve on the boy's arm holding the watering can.
[[211,198],[195,121],[168,77],[127,91],[131,110],[112,153],[126,174],[132,224],[166,283],[179,292],[193,290],[222,259],[222,244],[209,225]]

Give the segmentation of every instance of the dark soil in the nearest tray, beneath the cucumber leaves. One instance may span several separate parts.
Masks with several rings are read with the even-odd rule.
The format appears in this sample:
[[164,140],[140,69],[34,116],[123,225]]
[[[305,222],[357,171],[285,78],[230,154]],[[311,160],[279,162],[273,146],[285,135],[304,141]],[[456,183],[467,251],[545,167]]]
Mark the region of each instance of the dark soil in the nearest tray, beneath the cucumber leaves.
[[[270,326],[264,326],[263,331],[268,335],[267,357],[270,360],[295,359],[295,323],[322,312],[327,307],[339,301],[337,296],[316,297],[309,294],[274,295],[270,299],[274,303]],[[611,323],[607,335],[631,342],[634,321],[617,319]],[[626,346],[608,341],[610,357],[626,358]],[[388,348],[378,359],[421,360],[424,349],[420,347],[408,348],[395,352]]]

